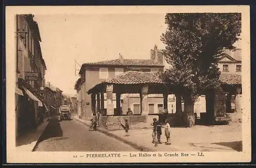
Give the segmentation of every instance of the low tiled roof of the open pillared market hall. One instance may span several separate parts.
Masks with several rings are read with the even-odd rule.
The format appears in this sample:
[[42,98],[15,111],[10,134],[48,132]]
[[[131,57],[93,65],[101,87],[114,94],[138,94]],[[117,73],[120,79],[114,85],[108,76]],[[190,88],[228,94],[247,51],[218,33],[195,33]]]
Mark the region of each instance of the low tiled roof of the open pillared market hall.
[[134,85],[141,83],[163,83],[163,81],[159,78],[158,72],[127,71],[114,78],[106,79],[102,83]]

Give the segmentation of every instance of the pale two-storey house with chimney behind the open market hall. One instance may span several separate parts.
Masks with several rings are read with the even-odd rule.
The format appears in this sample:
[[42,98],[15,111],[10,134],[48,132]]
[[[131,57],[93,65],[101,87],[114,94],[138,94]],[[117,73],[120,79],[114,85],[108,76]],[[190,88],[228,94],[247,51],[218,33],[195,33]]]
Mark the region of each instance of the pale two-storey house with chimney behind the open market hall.
[[[122,74],[126,71],[141,71],[141,72],[159,72],[163,71],[163,54],[155,46],[154,50],[150,51],[151,59],[141,60],[141,59],[124,59],[121,54],[119,54],[119,59],[110,60],[110,61],[101,61],[97,63],[85,63],[82,65],[79,75],[80,79],[77,81],[77,100],[78,105],[78,115],[84,118],[90,118],[92,114],[95,115],[96,110],[91,109],[91,96],[87,94],[87,91],[94,87],[97,83],[102,80],[115,77],[119,74]],[[131,79],[132,80],[132,79]],[[103,94],[102,94],[103,95]],[[126,114],[127,108],[131,108],[134,111],[135,115],[140,114],[139,102],[137,102],[138,95],[121,95],[121,108],[122,111],[118,111],[115,106],[115,94],[114,98],[114,113],[115,115]],[[158,99],[159,95],[152,97],[152,99]],[[96,99],[99,99],[98,95]],[[106,104],[106,96],[104,96],[104,104]],[[102,104],[103,105],[103,104]],[[163,104],[159,103],[156,108],[163,108]],[[104,110],[106,111],[106,105],[104,105]],[[154,113],[157,113],[158,109]]]

